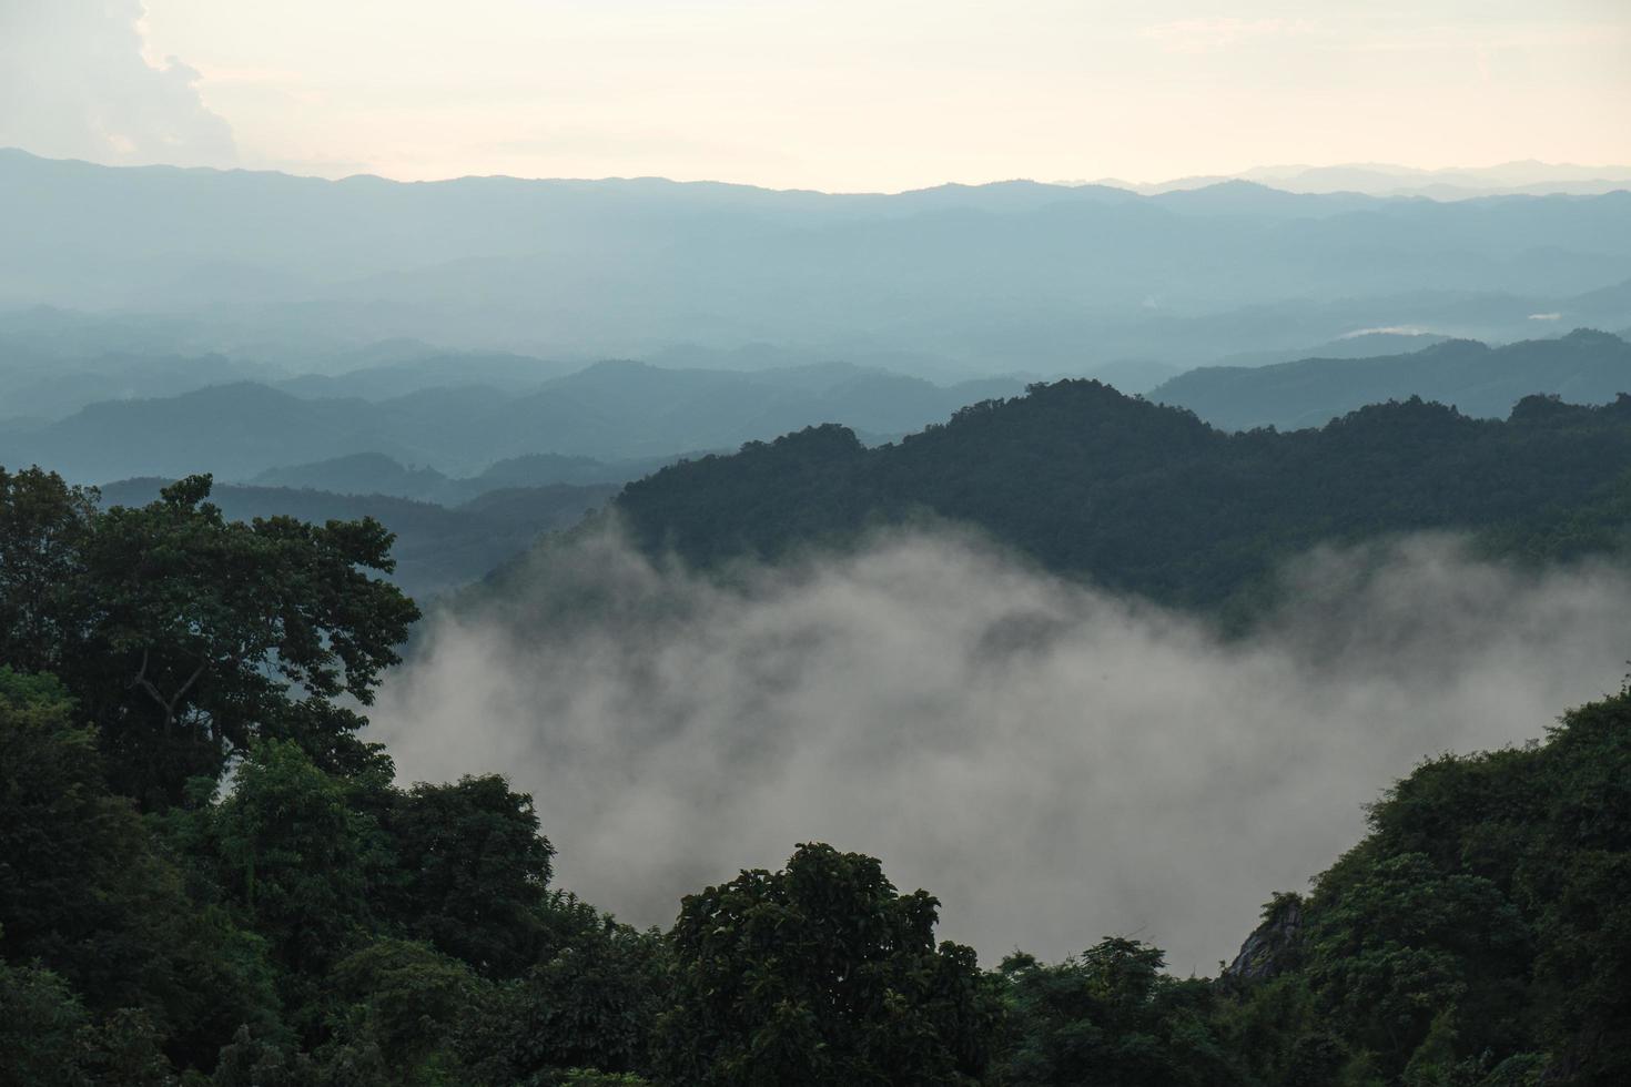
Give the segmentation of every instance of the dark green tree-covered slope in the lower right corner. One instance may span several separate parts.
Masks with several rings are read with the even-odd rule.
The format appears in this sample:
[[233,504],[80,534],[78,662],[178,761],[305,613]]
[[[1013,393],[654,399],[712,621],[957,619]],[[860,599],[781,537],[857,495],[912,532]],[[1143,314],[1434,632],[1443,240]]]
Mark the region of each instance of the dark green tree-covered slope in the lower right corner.
[[1248,1082],[1342,1082],[1357,1053],[1370,1082],[1624,1082],[1628,771],[1621,691],[1545,743],[1434,758],[1388,789],[1222,978]]

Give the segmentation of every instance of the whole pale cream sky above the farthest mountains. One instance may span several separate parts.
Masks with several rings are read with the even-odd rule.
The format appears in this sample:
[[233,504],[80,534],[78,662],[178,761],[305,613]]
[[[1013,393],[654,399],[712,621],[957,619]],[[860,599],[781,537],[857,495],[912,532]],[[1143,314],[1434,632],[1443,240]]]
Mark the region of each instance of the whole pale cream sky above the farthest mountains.
[[0,0],[0,145],[837,191],[1631,163],[1631,0]]

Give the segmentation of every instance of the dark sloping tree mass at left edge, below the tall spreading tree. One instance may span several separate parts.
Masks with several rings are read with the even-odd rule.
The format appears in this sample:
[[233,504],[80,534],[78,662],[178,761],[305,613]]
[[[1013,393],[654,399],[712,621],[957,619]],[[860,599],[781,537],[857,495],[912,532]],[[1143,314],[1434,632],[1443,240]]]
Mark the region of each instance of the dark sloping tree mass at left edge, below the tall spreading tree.
[[142,1010],[109,1045],[157,1032],[207,1061],[240,1023],[281,1027],[259,942],[192,900],[130,802],[108,794],[95,732],[73,724],[62,686],[5,667],[0,922],[0,957],[42,963],[91,1014]]

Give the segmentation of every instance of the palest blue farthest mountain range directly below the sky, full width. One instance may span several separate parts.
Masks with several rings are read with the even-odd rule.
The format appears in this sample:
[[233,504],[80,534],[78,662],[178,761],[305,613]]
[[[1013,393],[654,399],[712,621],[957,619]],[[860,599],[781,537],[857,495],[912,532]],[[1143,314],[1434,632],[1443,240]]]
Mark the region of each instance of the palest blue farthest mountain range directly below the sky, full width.
[[160,313],[250,362],[403,336],[579,365],[767,344],[912,359],[908,373],[946,381],[1187,368],[1373,328],[1509,341],[1533,336],[1533,315],[1631,321],[1593,293],[1631,279],[1626,192],[1437,202],[1228,181],[1143,197],[1014,181],[830,196],[5,152],[0,197],[0,308]]

